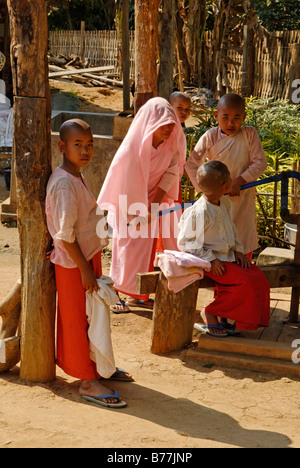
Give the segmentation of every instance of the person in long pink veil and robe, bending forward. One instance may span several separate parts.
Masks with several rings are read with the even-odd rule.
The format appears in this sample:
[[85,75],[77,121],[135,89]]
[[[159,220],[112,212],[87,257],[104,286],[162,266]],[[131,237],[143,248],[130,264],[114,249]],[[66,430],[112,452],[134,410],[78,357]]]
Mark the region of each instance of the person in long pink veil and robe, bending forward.
[[[110,275],[130,304],[148,300],[136,294],[136,274],[153,270],[157,211],[162,202],[166,208],[178,199],[185,156],[185,136],[172,106],[163,98],[150,99],[134,118],[99,194],[113,228]],[[162,236],[169,237],[168,231],[173,232],[163,226]],[[124,305],[119,310],[125,311]]]

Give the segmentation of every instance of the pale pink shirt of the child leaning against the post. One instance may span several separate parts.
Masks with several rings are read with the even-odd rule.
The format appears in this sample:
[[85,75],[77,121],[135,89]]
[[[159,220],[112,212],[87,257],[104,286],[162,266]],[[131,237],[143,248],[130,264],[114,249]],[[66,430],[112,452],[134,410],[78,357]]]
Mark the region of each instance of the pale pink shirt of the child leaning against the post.
[[103,216],[97,214],[98,205],[84,177],[75,177],[64,169],[56,168],[47,185],[47,225],[53,238],[52,263],[64,268],[76,268],[63,241],[79,247],[87,261],[108,244],[108,239],[97,235],[97,224]]

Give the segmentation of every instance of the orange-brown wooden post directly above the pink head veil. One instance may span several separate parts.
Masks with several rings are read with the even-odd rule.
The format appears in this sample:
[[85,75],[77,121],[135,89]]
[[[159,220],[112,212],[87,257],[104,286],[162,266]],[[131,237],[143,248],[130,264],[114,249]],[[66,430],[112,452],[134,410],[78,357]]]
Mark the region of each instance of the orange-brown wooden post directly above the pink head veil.
[[135,112],[157,96],[158,5],[159,0],[135,0]]

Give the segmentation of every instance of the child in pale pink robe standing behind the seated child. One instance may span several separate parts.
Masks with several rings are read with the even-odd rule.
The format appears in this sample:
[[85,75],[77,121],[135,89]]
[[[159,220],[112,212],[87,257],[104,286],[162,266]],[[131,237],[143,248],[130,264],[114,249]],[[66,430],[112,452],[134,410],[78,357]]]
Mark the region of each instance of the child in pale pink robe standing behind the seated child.
[[267,161],[259,136],[250,126],[242,127],[246,118],[245,101],[237,94],[226,94],[215,111],[218,127],[208,130],[191,153],[185,170],[199,192],[197,170],[206,160],[222,161],[229,169],[234,204],[234,222],[246,254],[258,246],[255,188],[241,191],[241,186],[256,180],[266,169]]

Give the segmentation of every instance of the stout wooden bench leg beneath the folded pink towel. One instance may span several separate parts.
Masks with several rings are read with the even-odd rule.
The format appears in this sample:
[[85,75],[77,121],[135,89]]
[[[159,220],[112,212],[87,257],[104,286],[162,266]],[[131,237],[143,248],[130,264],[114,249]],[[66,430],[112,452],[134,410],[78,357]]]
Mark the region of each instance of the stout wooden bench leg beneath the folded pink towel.
[[199,282],[195,281],[175,294],[160,273],[153,310],[152,353],[177,351],[192,342],[198,288]]

